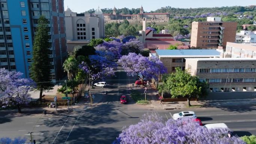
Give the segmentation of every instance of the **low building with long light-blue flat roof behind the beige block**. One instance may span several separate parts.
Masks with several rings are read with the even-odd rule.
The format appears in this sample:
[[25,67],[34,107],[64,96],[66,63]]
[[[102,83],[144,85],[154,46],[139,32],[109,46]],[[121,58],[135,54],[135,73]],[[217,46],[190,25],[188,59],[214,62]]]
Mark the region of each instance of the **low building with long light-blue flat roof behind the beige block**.
[[215,58],[220,56],[220,52],[214,49],[157,49],[156,56],[167,68],[168,73],[174,73],[176,67],[185,70],[186,58]]

